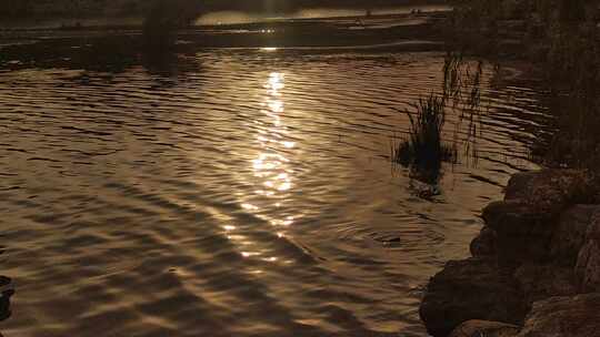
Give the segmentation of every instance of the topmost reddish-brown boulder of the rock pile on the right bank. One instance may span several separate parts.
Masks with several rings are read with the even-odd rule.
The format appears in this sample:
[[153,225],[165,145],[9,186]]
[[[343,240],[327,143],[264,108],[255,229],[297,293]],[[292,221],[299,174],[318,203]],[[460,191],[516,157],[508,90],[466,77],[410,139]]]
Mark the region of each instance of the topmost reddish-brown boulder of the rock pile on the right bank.
[[586,204],[596,191],[589,176],[577,170],[543,170],[514,174],[504,200],[521,200],[540,212],[560,213],[566,206]]

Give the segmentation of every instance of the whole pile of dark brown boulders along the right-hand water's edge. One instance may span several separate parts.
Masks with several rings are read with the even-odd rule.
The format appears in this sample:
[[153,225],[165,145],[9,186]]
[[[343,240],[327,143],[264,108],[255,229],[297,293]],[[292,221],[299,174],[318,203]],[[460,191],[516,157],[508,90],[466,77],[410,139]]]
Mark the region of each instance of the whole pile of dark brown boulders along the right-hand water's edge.
[[420,316],[434,337],[600,337],[600,205],[583,172],[511,177],[472,257],[433,276]]

